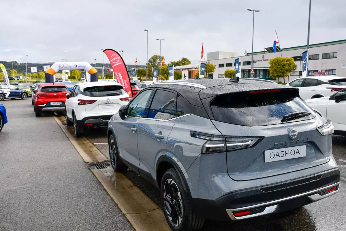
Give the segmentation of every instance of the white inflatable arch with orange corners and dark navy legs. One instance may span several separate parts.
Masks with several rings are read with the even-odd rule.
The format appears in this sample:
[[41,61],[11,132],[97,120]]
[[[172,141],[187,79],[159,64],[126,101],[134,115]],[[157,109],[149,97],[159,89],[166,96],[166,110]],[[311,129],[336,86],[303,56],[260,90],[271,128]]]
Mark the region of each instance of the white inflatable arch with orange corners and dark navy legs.
[[55,62],[45,73],[46,83],[54,82],[53,75],[59,70],[85,70],[90,74],[90,81],[97,82],[97,70],[88,62]]

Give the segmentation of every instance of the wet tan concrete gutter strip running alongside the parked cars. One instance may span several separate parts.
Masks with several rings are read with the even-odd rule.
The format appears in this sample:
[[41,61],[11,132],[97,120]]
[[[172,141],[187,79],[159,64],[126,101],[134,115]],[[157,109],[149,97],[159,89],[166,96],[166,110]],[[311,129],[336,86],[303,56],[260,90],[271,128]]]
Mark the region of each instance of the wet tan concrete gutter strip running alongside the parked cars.
[[[84,137],[74,137],[73,129],[66,128],[65,118],[63,116],[54,116],[54,119],[88,166],[91,165],[90,163],[108,162],[108,159],[102,152],[88,139]],[[114,172],[110,167],[103,169],[94,168],[90,170],[136,230],[171,230],[166,222],[162,209],[124,174]]]

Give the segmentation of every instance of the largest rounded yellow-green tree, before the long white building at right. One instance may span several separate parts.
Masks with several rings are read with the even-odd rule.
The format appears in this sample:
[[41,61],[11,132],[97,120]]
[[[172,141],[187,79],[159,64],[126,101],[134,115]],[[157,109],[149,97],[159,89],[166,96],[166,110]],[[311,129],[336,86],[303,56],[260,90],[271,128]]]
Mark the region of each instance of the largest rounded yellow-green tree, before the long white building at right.
[[289,76],[291,71],[297,69],[292,57],[275,57],[270,59],[269,64],[270,77],[274,79],[283,78],[284,83],[285,77]]

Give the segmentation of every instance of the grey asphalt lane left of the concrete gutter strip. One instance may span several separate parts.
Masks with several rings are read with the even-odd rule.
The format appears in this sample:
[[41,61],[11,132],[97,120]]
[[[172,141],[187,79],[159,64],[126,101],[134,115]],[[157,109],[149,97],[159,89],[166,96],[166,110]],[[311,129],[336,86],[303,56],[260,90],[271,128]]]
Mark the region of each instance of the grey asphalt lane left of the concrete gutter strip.
[[31,99],[4,100],[0,230],[134,230],[51,113]]

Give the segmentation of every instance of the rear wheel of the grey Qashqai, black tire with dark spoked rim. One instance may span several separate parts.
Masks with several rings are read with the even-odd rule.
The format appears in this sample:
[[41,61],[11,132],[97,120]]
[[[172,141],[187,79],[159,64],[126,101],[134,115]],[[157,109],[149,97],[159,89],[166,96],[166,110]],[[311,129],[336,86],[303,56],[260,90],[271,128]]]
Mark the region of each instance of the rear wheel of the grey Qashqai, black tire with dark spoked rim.
[[[168,169],[162,177],[161,202],[166,221],[172,230],[198,230],[204,225],[204,218],[196,216],[192,211],[187,188],[174,168]],[[173,190],[175,193],[171,196]]]

